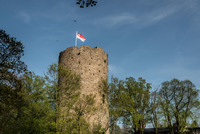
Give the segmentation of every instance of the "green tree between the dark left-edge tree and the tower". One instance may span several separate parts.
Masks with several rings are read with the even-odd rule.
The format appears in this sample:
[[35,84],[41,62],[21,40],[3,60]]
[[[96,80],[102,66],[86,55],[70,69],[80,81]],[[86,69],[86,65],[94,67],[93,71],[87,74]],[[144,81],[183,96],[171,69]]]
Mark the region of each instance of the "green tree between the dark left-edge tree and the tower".
[[51,107],[45,78],[29,72],[25,75],[24,88],[27,104],[18,120],[21,124],[19,132],[55,133],[55,109]]

